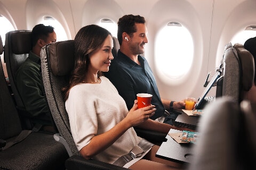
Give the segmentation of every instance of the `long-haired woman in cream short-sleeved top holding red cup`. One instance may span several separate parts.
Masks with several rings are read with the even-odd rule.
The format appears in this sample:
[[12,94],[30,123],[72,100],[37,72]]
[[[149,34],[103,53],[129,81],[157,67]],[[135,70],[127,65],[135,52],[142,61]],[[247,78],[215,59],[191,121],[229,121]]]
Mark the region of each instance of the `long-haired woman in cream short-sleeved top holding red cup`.
[[[116,88],[102,76],[101,72],[109,70],[114,58],[111,33],[98,25],[87,25],[77,32],[74,41],[75,67],[66,88],[65,104],[71,132],[81,155],[85,159],[94,158],[131,169],[180,167],[180,164],[156,158],[159,146],[141,139],[132,128],[139,126],[167,134],[170,125],[149,119],[154,115],[155,106],[137,109],[135,100],[128,111]],[[129,155],[131,150],[137,158]],[[123,155],[129,160],[124,162],[120,158]]]

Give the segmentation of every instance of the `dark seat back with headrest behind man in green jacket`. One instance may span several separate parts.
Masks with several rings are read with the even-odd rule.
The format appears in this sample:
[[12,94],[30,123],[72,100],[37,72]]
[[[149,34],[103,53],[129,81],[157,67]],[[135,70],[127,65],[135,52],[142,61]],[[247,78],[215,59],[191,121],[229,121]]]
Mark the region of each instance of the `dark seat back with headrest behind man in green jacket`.
[[31,31],[15,30],[6,33],[4,61],[14,99],[20,111],[25,111],[25,106],[15,83],[15,74],[20,65],[27,59],[31,48]]

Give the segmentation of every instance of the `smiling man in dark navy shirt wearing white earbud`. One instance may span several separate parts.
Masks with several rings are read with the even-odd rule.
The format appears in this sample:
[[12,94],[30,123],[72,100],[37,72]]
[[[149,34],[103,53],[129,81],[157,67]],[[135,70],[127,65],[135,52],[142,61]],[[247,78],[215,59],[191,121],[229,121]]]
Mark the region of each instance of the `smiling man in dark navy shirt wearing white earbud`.
[[[158,122],[171,124],[185,107],[185,102],[162,99],[153,72],[145,57],[144,46],[148,43],[145,19],[140,15],[124,15],[118,20],[117,39],[120,49],[104,74],[114,84],[128,109],[133,106],[137,94],[153,95],[151,104],[156,106],[154,116]],[[170,111],[166,114],[165,109]]]

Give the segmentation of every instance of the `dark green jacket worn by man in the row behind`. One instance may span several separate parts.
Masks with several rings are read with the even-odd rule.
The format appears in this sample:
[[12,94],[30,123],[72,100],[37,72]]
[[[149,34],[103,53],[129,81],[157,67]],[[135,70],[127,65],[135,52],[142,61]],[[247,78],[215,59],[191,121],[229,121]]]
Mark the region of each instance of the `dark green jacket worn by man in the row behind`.
[[40,57],[30,51],[27,60],[19,67],[15,80],[25,109],[30,116],[44,117],[45,115],[50,118],[50,110],[42,91],[40,67]]

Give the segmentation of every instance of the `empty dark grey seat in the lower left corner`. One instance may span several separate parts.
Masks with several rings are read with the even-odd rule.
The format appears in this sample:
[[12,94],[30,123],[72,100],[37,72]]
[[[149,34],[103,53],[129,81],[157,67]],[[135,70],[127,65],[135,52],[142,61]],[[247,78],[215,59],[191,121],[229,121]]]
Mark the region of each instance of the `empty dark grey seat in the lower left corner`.
[[67,151],[52,134],[22,130],[1,60],[0,86],[0,169],[65,169]]

